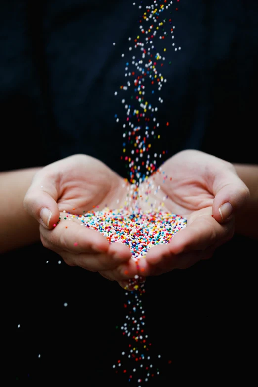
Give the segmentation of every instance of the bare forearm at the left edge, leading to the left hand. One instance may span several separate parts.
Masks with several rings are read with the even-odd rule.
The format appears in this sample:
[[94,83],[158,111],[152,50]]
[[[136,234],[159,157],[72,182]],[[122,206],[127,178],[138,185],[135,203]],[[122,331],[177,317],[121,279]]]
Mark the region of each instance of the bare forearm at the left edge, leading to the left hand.
[[39,224],[23,208],[24,196],[39,169],[0,172],[0,254],[40,240]]

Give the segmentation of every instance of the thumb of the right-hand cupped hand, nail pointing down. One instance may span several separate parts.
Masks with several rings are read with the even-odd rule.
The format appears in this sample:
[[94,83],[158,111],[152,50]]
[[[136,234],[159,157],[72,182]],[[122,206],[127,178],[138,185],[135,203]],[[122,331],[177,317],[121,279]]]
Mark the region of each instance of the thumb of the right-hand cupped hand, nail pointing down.
[[[233,167],[233,166],[232,166]],[[241,209],[249,198],[249,189],[238,177],[234,167],[218,173],[213,184],[213,217],[226,223]]]

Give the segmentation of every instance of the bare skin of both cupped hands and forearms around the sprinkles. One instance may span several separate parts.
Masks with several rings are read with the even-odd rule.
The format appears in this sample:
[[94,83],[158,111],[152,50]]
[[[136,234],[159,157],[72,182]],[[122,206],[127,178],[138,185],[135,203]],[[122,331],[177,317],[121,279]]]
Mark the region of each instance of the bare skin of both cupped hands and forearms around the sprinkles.
[[[165,183],[163,172],[168,175]],[[144,191],[146,184],[154,185],[147,205],[142,207],[150,208],[155,200],[159,204],[168,195],[163,209],[186,217],[187,227],[178,232],[169,244],[149,250],[146,258],[140,261],[140,270],[144,269],[144,275],[159,275],[175,268],[187,268],[200,259],[208,259],[216,247],[233,236],[234,228],[241,232],[243,216],[252,215],[250,219],[255,219],[258,215],[257,176],[258,166],[234,167],[214,156],[193,150],[180,152],[164,163],[161,173],[157,172],[140,187]],[[118,281],[123,287],[128,278],[137,273],[127,246],[109,244],[103,235],[71,218],[71,214],[91,211],[93,206],[99,206],[95,210],[101,210],[106,205],[116,208],[117,199],[123,206],[128,193],[127,185],[100,161],[86,155],[74,155],[44,168],[3,172],[0,182],[0,196],[5,198],[1,201],[1,214],[5,219],[5,227],[0,230],[1,252],[40,239],[45,247],[57,252],[68,265],[99,271],[102,276]],[[161,189],[154,195],[158,186]],[[233,214],[228,219],[222,218],[219,208],[228,202],[233,207]],[[44,224],[41,219],[42,208],[51,210],[49,224]],[[71,214],[63,213],[63,210]],[[71,220],[62,220],[53,227],[59,216],[64,217],[65,214]],[[46,219],[44,221],[47,223]],[[255,224],[250,230],[250,235],[258,238]],[[249,236],[248,229],[245,232]]]

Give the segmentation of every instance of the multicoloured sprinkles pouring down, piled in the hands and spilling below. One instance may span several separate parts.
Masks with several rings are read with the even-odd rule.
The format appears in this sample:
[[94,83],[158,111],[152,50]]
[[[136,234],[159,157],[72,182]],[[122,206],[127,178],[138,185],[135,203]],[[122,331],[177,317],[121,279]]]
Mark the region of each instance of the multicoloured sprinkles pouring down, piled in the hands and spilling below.
[[[141,192],[142,183],[146,184],[148,177],[156,172],[161,173],[161,167],[157,171],[157,158],[161,159],[161,162],[167,153],[164,150],[157,151],[157,140],[160,138],[158,128],[160,124],[169,127],[170,122],[162,117],[160,119],[163,121],[157,122],[156,115],[158,106],[163,103],[159,94],[167,82],[162,70],[165,65],[172,64],[172,58],[168,60],[166,56],[169,53],[172,57],[172,51],[181,50],[181,47],[175,46],[175,26],[172,25],[179,1],[174,1],[176,6],[173,1],[168,0],[154,0],[151,4],[149,1],[148,5],[144,5],[145,1],[140,1],[138,5],[141,12],[138,20],[139,32],[133,38],[128,38],[128,49],[132,51],[132,57],[127,59],[126,55],[125,82],[115,91],[115,96],[122,94],[121,103],[125,108],[125,117],[120,118],[115,114],[115,119],[118,125],[121,125],[122,121],[124,142],[121,160],[128,169],[131,195],[124,209],[105,209],[104,212],[89,214],[84,220],[87,227],[100,231],[110,242],[120,241],[127,244],[136,265],[138,259],[144,257],[150,247],[168,243],[177,231],[186,226],[186,219],[161,210],[164,203],[159,203],[159,206],[156,201],[151,203],[150,207],[154,205],[155,211],[153,207],[145,212],[140,210],[142,199],[146,204],[149,200],[148,194],[153,188],[153,185],[147,183],[148,189]],[[121,56],[124,58],[125,54],[122,53]],[[163,183],[167,177],[164,176]],[[160,186],[157,187],[157,190],[159,189]],[[133,385],[136,381],[137,386],[141,387],[143,382],[148,382],[155,374],[159,374],[156,360],[160,355],[154,355],[151,360],[151,343],[144,329],[145,311],[142,306],[145,288],[144,284],[139,282],[139,275],[130,282],[129,289],[134,290],[126,292],[126,321],[121,326],[122,334],[129,338],[130,343],[113,368],[116,372],[123,372],[129,382],[134,382]]]

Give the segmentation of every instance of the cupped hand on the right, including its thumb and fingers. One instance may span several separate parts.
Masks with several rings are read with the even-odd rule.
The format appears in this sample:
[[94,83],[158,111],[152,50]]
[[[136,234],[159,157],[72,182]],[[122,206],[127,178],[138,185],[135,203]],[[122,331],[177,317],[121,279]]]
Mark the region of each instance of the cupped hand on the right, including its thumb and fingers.
[[[164,177],[168,176],[164,181]],[[149,250],[139,263],[145,276],[173,269],[185,269],[208,259],[215,249],[232,238],[234,215],[249,197],[246,185],[232,164],[195,150],[177,153],[166,161],[161,173],[147,183],[154,184],[148,206],[164,202],[164,210],[187,218],[187,227],[170,243]],[[154,190],[160,186],[157,195]],[[168,196],[164,199],[164,196]],[[155,206],[154,206],[155,207]],[[121,286],[125,286],[121,282]]]

